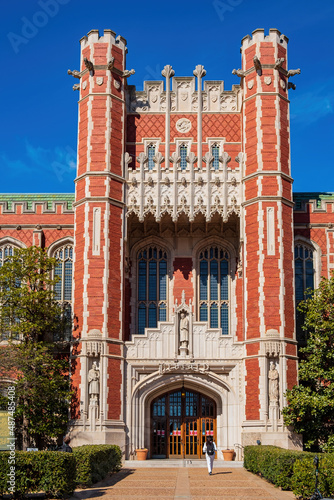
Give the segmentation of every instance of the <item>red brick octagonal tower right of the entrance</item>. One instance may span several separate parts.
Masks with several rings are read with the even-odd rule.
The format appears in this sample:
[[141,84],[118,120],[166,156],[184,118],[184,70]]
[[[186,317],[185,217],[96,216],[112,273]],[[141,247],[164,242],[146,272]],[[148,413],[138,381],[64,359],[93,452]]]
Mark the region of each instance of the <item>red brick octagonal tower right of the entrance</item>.
[[[279,402],[282,406],[285,390],[297,381],[287,43],[276,29],[268,36],[258,29],[241,48],[245,442],[254,441],[263,426],[273,433],[283,430]],[[276,404],[268,379],[271,362],[279,374]]]

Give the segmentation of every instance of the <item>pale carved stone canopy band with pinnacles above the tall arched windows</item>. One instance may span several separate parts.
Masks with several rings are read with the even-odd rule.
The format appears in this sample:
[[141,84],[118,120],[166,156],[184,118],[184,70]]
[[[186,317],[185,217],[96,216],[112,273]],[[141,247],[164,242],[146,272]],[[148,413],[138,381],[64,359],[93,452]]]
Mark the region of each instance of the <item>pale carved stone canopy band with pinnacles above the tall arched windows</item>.
[[[126,156],[129,159],[129,156]],[[218,167],[213,166],[213,157],[206,153],[202,169],[194,153],[187,156],[186,168],[181,167],[180,157],[170,157],[172,168],[166,168],[161,153],[155,156],[154,167],[149,169],[148,158],[141,153],[137,165],[127,163],[127,215],[134,213],[139,221],[149,214],[156,221],[169,214],[174,222],[181,214],[193,221],[203,214],[210,221],[218,213],[226,222],[233,213],[240,214],[241,169],[230,168],[230,156],[225,152],[219,157]]]

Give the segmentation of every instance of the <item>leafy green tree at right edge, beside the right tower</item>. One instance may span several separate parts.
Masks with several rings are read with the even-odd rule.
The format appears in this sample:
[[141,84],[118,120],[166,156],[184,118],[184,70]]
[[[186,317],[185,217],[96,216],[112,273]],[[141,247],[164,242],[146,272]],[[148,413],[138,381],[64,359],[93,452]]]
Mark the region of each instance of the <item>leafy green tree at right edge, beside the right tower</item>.
[[307,344],[300,349],[299,386],[286,393],[284,422],[303,434],[306,448],[334,451],[334,273],[299,310]]

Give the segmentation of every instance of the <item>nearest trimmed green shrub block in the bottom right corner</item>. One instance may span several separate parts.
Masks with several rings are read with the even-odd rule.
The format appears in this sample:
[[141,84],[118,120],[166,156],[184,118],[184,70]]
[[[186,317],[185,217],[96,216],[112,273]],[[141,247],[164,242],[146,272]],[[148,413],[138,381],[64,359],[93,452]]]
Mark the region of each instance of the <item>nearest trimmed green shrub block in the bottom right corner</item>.
[[[318,489],[323,496],[334,496],[334,453],[318,454]],[[310,498],[315,489],[315,466],[313,457],[305,457],[295,462],[291,489],[295,496]]]

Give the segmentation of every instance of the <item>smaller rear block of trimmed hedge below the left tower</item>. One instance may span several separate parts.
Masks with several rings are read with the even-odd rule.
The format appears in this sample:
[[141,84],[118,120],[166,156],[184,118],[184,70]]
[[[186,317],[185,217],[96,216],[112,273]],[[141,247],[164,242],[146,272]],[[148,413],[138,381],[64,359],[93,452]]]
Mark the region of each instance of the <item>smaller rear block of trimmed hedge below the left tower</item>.
[[73,448],[77,463],[76,483],[91,486],[109,473],[120,470],[122,452],[116,445],[84,445]]

